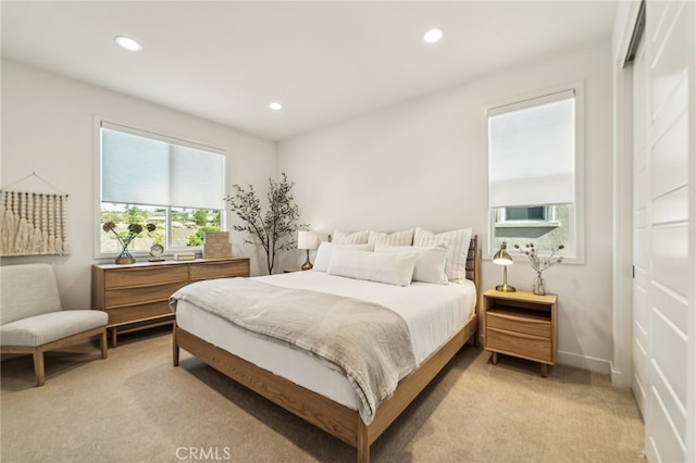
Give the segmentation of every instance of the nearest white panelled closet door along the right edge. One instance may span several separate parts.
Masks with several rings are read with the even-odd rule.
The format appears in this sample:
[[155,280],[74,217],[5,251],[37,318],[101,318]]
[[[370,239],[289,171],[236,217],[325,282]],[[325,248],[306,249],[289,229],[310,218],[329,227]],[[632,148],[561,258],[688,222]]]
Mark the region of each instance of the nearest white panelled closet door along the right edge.
[[[643,346],[645,359],[637,348],[634,366],[635,381],[639,383],[636,396],[644,395],[638,402],[644,402],[650,462],[685,461],[687,454],[693,454],[694,445],[688,436],[694,423],[687,418],[693,414],[695,386],[695,243],[689,228],[689,209],[694,209],[694,166],[689,155],[694,157],[696,116],[694,23],[691,1],[647,2],[646,83],[638,82],[646,87],[641,96],[647,98],[646,113],[639,117],[645,118],[647,147],[645,160],[642,153],[636,154],[634,192],[636,204],[645,201],[645,210],[635,209],[634,324],[634,341]],[[638,127],[636,130],[639,138]]]

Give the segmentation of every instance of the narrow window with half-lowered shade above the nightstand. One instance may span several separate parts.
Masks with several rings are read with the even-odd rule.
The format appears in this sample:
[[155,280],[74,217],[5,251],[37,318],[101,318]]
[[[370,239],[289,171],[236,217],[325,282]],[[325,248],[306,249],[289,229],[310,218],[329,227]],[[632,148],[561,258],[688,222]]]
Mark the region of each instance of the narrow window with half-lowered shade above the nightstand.
[[506,241],[577,258],[577,100],[569,89],[488,110],[490,253]]

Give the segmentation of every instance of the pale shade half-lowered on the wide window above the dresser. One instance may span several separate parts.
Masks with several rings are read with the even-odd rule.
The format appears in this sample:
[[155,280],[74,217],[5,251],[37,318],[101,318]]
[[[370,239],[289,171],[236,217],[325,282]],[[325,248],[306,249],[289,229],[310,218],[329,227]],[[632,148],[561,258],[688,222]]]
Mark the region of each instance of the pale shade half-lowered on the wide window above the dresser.
[[224,209],[225,157],[150,135],[102,124],[101,200]]

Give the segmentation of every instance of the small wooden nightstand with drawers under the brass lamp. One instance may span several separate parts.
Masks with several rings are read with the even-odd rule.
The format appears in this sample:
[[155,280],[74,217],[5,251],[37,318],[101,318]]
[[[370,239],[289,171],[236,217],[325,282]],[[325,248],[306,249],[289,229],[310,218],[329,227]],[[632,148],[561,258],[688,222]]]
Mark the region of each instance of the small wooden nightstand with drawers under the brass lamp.
[[489,289],[483,295],[485,349],[527,359],[547,366],[556,363],[557,296],[536,296],[532,292],[501,292]]

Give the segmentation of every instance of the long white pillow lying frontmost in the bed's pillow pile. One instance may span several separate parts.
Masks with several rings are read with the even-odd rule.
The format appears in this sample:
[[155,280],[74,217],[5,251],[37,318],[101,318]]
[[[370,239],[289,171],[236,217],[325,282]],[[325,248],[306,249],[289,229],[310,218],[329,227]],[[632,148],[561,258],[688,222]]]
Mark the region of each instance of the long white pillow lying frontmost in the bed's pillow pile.
[[328,275],[366,279],[396,286],[409,286],[413,277],[417,254],[338,249],[328,263]]

